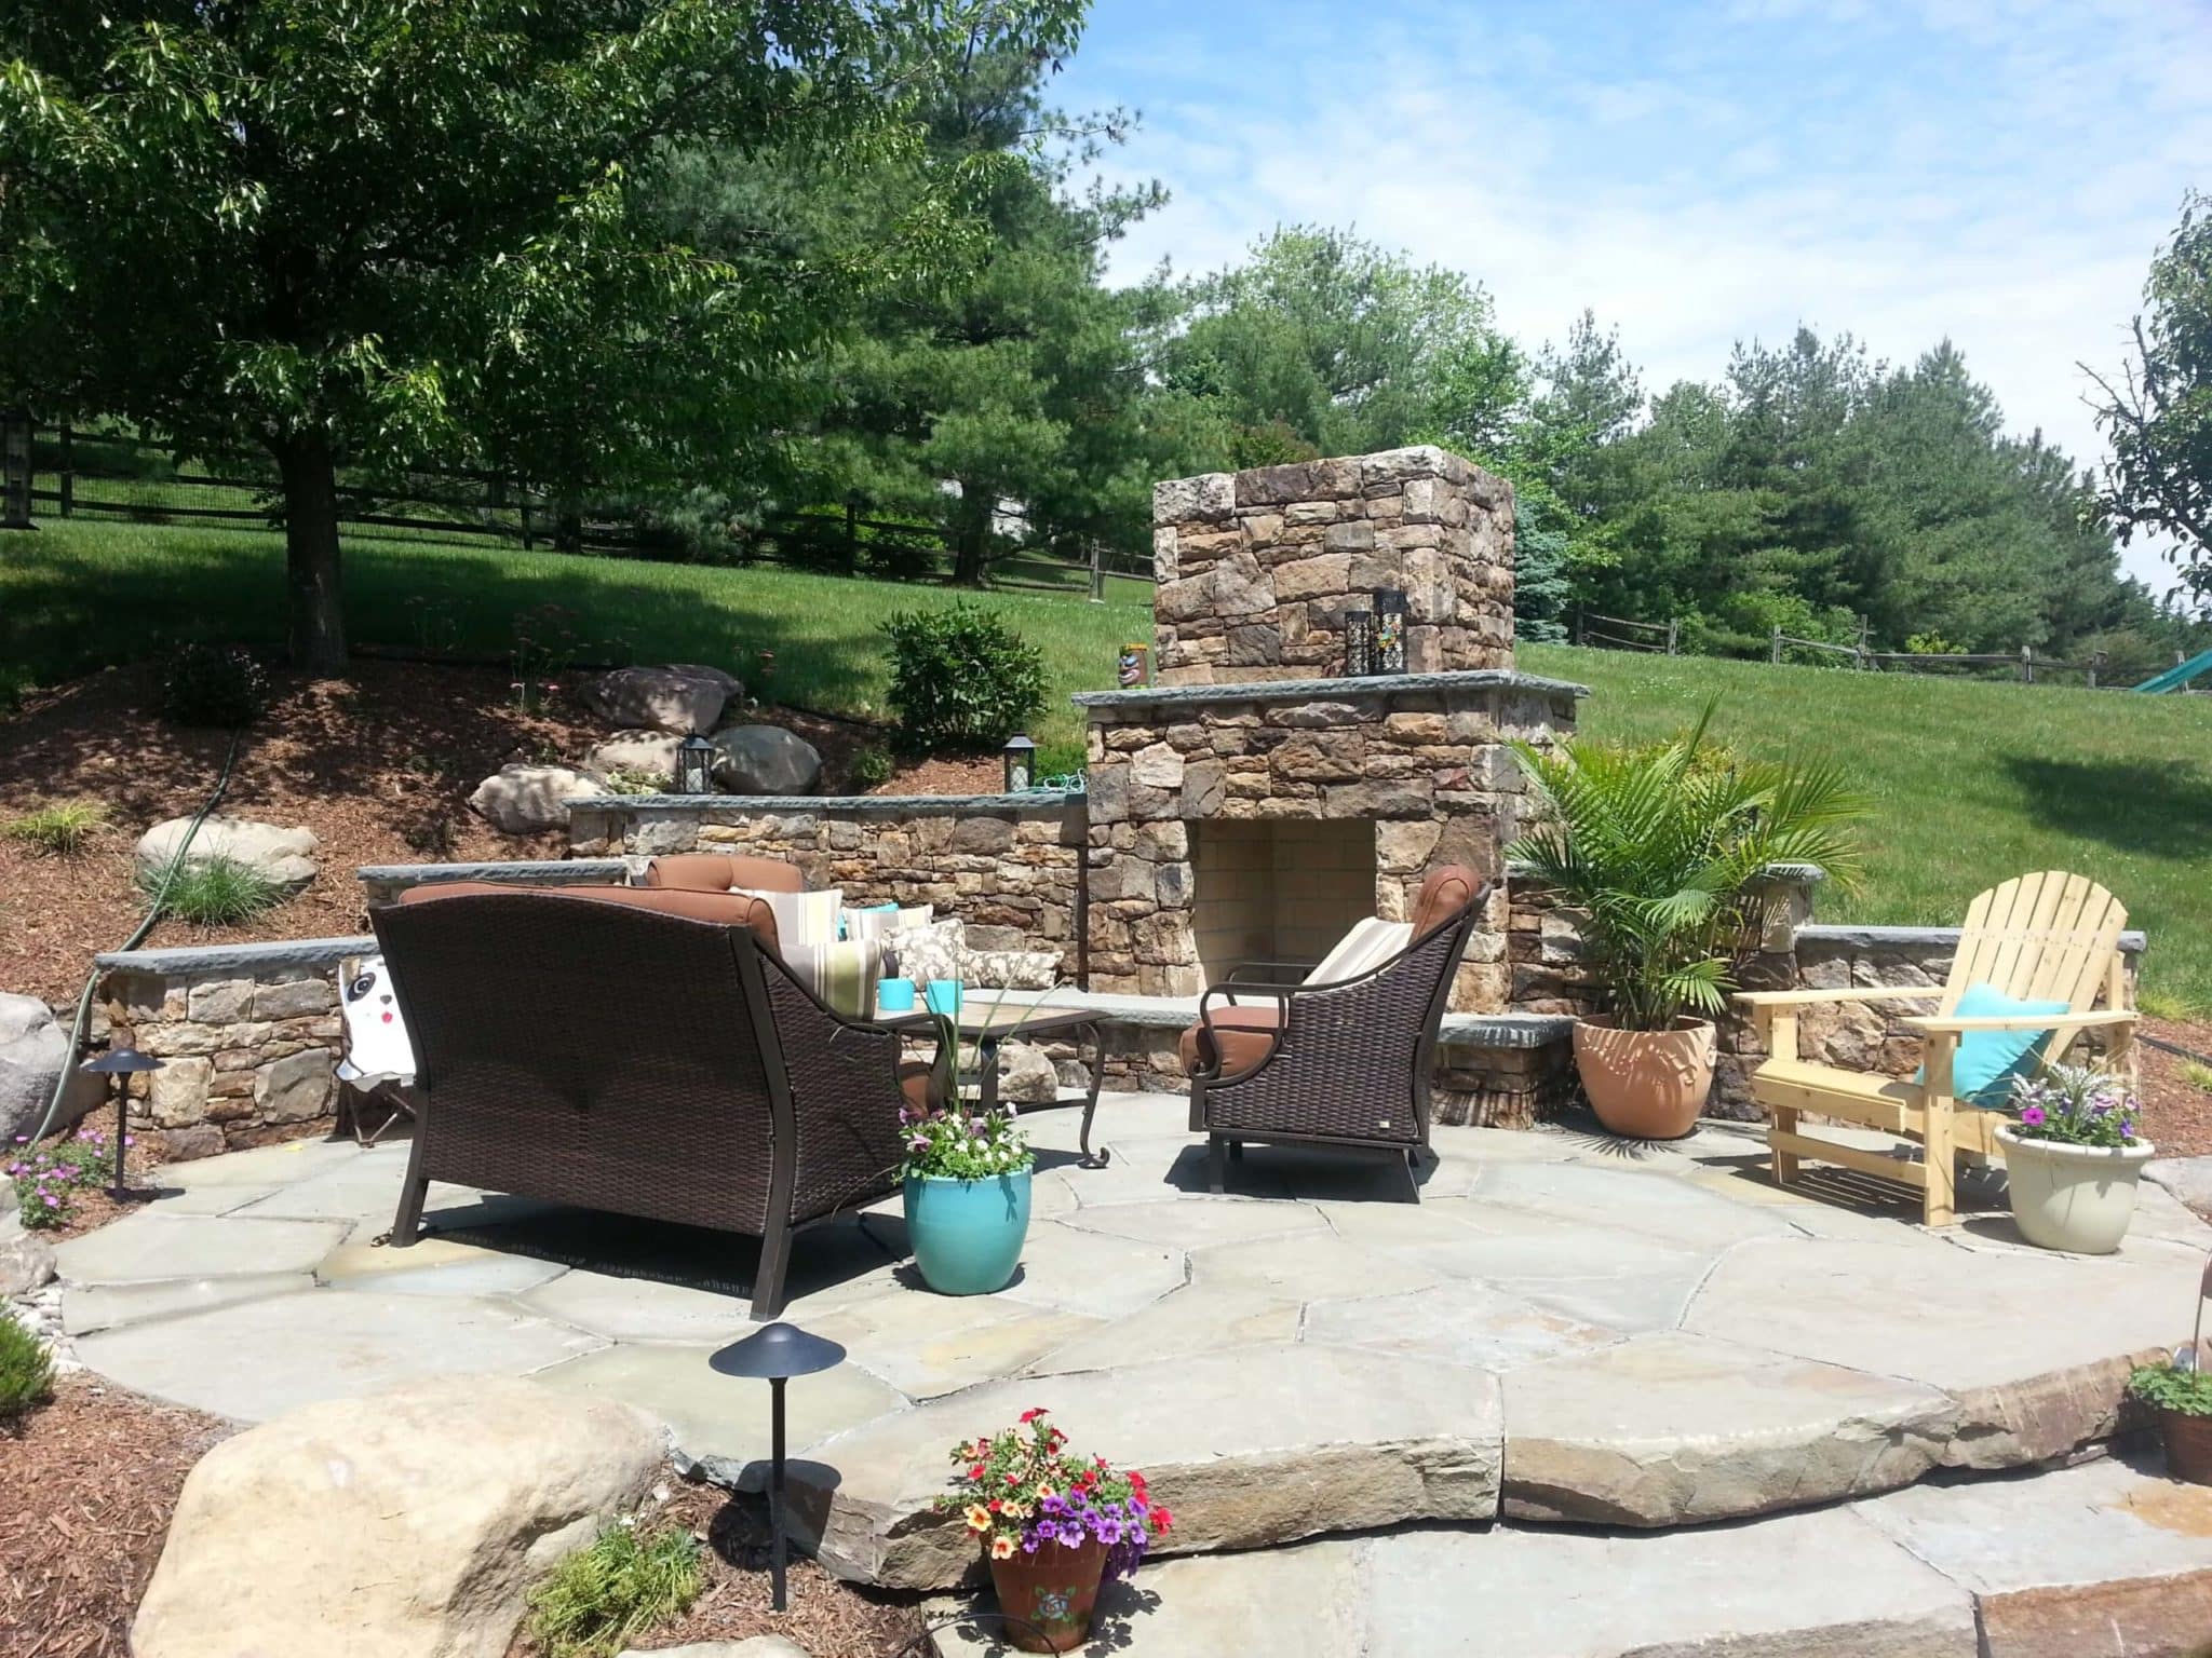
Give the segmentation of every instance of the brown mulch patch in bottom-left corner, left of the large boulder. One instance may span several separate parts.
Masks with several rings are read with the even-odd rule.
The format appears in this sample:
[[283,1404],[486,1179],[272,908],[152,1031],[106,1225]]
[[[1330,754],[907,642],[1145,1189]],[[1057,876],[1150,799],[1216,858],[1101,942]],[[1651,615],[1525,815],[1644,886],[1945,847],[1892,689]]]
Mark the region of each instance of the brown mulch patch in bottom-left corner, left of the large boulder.
[[0,1654],[124,1658],[184,1477],[230,1433],[86,1375],[0,1428]]

